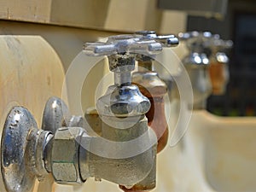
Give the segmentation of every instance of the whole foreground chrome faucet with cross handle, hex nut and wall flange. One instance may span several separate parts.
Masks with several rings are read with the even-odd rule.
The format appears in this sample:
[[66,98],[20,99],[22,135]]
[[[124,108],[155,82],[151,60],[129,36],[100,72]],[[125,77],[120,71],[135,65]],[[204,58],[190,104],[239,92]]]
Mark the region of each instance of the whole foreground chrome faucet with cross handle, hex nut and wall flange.
[[[170,39],[171,40],[171,39]],[[150,102],[131,84],[131,71],[141,55],[159,54],[164,44],[143,35],[120,35],[107,43],[84,45],[90,56],[108,55],[114,84],[98,99],[101,137],[90,135],[84,117],[73,116],[61,99],[45,105],[42,129],[32,114],[15,107],[7,116],[1,143],[1,171],[10,192],[31,191],[36,178],[52,174],[56,183],[105,179],[132,189],[154,189],[157,137],[145,114]]]

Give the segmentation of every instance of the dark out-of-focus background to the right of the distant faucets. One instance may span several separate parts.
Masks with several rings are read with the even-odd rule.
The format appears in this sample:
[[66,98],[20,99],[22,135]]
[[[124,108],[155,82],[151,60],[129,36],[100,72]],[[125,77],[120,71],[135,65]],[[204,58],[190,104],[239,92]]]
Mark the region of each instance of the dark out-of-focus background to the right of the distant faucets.
[[[202,10],[201,8],[207,9],[211,1],[181,2],[160,0],[160,7],[187,9],[185,10],[188,14],[186,31],[209,31],[234,42],[234,47],[228,54],[230,82],[227,90],[223,96],[210,96],[207,100],[207,110],[222,116],[255,116],[256,2],[253,0],[215,1],[219,9],[216,8],[212,13],[207,10],[200,13],[198,11]],[[177,6],[177,4],[180,5]],[[189,10],[191,8],[194,10]]]

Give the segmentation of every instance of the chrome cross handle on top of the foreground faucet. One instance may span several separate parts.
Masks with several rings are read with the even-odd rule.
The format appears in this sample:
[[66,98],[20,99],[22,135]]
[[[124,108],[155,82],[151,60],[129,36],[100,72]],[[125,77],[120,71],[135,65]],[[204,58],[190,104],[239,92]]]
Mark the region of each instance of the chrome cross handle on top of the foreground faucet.
[[143,38],[142,35],[117,35],[108,37],[107,42],[86,43],[84,53],[91,56],[101,55],[157,55],[162,44],[154,39]]

